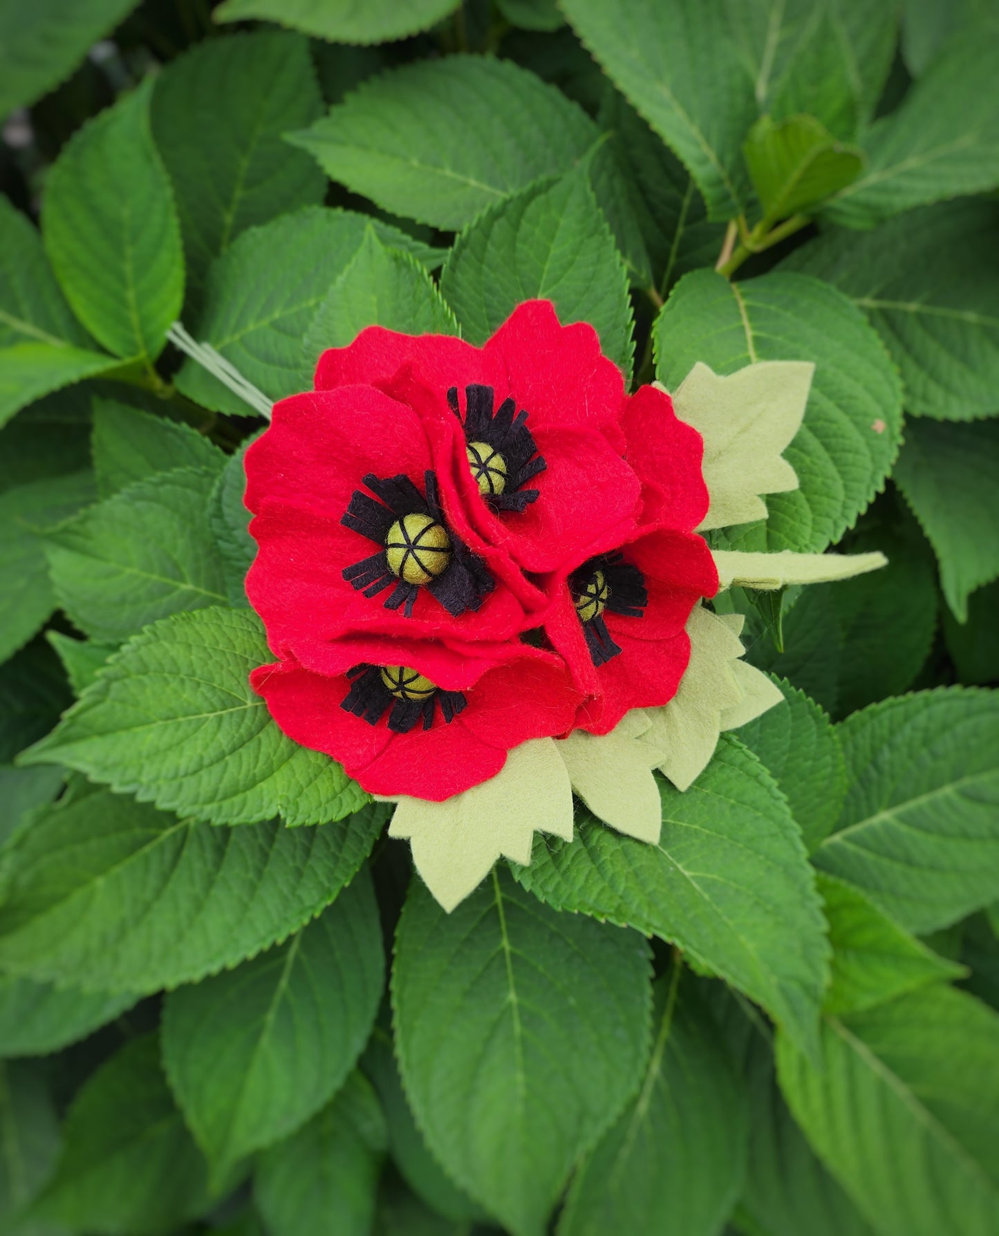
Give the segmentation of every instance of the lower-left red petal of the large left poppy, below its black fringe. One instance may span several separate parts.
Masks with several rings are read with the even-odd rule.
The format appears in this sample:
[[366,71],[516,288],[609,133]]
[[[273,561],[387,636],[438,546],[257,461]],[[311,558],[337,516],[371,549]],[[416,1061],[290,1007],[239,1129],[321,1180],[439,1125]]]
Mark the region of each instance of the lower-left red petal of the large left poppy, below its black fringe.
[[258,549],[246,576],[246,596],[263,619],[267,640],[278,656],[294,651],[300,641],[350,633],[501,640],[523,629],[523,608],[502,585],[477,612],[459,618],[453,618],[427,588],[418,591],[408,618],[402,609],[385,608],[391,588],[373,597],[355,591],[344,580],[344,567],[362,561],[377,546],[344,528],[339,515],[265,502],[250,531]]

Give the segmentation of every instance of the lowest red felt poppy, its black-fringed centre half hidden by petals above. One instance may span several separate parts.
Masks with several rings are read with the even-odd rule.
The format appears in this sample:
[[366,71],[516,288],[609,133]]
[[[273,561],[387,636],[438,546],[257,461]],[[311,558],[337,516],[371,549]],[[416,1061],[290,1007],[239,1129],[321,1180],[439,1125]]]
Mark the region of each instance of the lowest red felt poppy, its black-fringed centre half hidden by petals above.
[[349,637],[250,681],[286,734],[368,792],[435,802],[495,776],[519,743],[565,733],[582,700],[558,656],[517,641]]

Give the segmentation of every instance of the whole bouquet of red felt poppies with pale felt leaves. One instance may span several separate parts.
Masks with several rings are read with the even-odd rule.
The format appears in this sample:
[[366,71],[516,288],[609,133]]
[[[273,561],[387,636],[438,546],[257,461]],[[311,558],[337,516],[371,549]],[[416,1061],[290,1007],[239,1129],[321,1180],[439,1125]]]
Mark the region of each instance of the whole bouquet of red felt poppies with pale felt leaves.
[[251,684],[398,801],[391,833],[443,905],[529,861],[535,829],[571,839],[574,792],[658,839],[652,770],[685,789],[781,698],[705,602],[880,565],[705,536],[796,486],[780,452],[811,370],[628,394],[596,331],[534,300],[482,347],[370,326],[274,405],[246,454],[246,591],[277,658]]

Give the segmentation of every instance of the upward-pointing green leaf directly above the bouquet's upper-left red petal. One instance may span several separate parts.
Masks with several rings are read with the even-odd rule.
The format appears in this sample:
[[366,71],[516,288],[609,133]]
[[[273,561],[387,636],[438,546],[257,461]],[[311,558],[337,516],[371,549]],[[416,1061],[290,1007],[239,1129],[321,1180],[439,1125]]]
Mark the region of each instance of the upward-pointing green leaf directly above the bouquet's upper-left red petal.
[[321,302],[302,345],[303,381],[328,347],[346,347],[365,326],[406,335],[456,335],[457,323],[417,260],[388,248],[373,227]]

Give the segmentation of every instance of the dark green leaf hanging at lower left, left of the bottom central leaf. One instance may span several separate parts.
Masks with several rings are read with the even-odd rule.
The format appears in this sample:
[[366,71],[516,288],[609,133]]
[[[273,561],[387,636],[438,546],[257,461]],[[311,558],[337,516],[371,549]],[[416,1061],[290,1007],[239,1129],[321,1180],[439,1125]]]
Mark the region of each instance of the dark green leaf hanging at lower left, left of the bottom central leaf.
[[333,1098],[371,1033],[385,983],[367,871],[288,941],[163,1005],[163,1067],[221,1185]]

